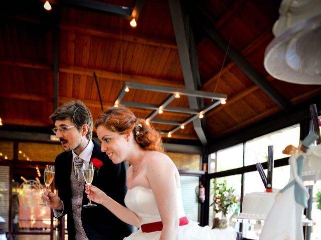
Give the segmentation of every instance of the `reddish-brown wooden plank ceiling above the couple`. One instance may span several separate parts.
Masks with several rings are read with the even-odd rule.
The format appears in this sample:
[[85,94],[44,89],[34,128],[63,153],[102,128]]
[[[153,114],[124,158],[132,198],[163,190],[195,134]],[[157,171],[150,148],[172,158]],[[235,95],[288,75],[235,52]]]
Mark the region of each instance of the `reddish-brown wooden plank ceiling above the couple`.
[[[176,21],[173,25],[172,21],[176,13],[171,13],[171,9],[176,0],[169,1],[145,0],[136,28],[131,28],[124,17],[60,4],[63,1],[53,1],[51,12],[43,8],[41,0],[3,2],[0,9],[3,127],[39,127],[49,132],[55,100],[61,105],[80,99],[95,119],[101,107],[93,72],[104,107],[114,103],[124,81],[189,88],[185,75],[188,69],[181,62],[184,58],[180,47],[184,42],[178,40],[174,27],[179,24]],[[129,8],[135,4],[133,0],[101,2]],[[187,42],[195,42],[196,53],[191,58],[197,60],[192,67],[199,74],[194,76],[199,78],[195,80],[197,89],[227,95],[227,103],[208,111],[202,120],[207,139],[233,133],[321,93],[318,85],[280,81],[264,69],[264,51],[273,39],[271,29],[278,18],[279,1],[182,2],[183,22],[185,26],[191,23],[185,30],[193,30],[194,39]],[[166,96],[132,89],[123,100],[159,104]],[[204,104],[208,102],[204,100]],[[190,107],[190,101],[181,96],[170,106]],[[139,117],[151,112],[132,110]],[[156,118],[183,121],[188,116],[165,110]],[[168,131],[172,126],[155,124],[155,127]],[[173,133],[172,138],[199,142],[197,131],[191,122]]]

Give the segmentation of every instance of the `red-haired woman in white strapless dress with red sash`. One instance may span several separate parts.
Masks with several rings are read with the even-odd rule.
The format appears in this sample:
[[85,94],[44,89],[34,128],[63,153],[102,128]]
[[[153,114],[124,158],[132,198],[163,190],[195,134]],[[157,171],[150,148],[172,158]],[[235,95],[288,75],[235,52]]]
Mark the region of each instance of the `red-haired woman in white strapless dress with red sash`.
[[159,133],[144,119],[125,107],[109,107],[98,116],[95,127],[101,150],[112,162],[130,163],[127,207],[93,185],[86,185],[87,197],[139,228],[124,239],[219,239],[209,226],[201,227],[186,217],[178,169],[164,153]]

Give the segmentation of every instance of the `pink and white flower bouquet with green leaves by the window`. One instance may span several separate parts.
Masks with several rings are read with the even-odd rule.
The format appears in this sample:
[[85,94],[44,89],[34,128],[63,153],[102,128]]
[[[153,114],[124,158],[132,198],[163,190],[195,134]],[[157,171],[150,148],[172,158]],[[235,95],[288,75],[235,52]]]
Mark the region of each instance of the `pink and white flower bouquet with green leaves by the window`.
[[224,215],[229,211],[229,208],[236,203],[236,194],[233,187],[228,187],[226,180],[221,183],[216,183],[214,179],[213,187],[213,209],[216,213],[222,211]]

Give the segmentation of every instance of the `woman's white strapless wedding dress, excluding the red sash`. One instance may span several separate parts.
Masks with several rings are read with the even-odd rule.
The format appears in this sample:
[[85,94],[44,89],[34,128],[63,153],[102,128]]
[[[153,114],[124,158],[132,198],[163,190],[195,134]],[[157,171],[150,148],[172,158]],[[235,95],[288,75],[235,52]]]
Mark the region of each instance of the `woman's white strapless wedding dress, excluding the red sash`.
[[[184,207],[182,200],[181,188],[178,189],[178,205],[179,217],[184,217]],[[136,186],[128,189],[125,196],[126,206],[136,212],[142,218],[142,224],[161,221],[156,200],[151,189],[142,186]],[[225,234],[219,231],[212,230],[209,226],[199,226],[197,222],[191,221],[186,225],[179,226],[176,240],[225,240],[235,239],[236,233],[230,233],[231,238],[227,238]],[[234,235],[235,233],[235,235]],[[138,229],[137,232],[125,237],[124,240],[158,240],[161,236],[161,231],[142,232]]]

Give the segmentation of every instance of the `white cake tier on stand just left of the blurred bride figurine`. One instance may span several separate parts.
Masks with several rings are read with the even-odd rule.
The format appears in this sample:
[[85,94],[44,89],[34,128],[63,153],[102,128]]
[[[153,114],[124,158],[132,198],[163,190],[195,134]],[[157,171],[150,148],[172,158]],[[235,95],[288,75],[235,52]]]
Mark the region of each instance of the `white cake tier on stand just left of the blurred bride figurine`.
[[243,198],[242,212],[239,218],[264,220],[270,211],[276,192],[251,192]]

